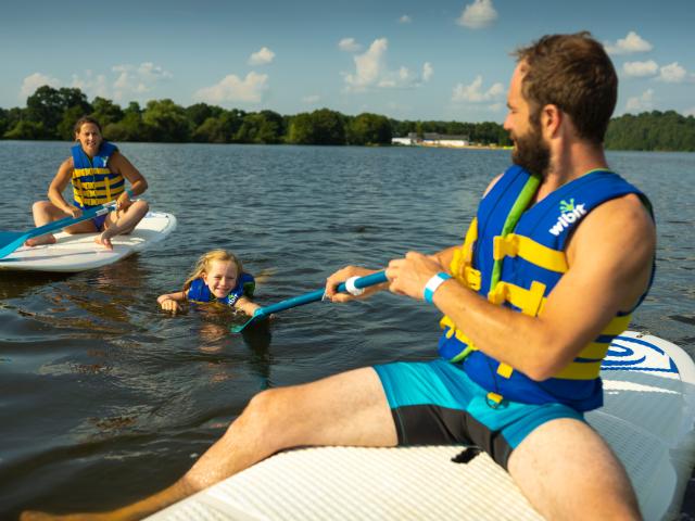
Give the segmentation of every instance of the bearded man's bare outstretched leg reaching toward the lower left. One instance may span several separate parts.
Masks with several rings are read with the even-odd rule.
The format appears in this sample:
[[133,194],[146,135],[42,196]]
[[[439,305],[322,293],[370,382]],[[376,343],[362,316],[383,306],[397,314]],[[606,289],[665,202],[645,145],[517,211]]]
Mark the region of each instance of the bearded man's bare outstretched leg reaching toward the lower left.
[[[395,425],[371,368],[254,396],[227,432],[175,484],[93,519],[140,519],[283,449],[303,445],[395,446]],[[73,516],[70,519],[88,519]],[[24,512],[22,520],[52,519]]]

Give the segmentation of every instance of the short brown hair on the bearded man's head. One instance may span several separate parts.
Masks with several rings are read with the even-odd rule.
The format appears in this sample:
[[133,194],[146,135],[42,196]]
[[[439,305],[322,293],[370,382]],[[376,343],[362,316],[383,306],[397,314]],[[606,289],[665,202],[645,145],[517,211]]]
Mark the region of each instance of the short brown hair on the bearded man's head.
[[547,35],[514,55],[522,64],[521,92],[534,125],[543,106],[556,105],[571,117],[580,138],[603,143],[618,99],[618,76],[589,31]]

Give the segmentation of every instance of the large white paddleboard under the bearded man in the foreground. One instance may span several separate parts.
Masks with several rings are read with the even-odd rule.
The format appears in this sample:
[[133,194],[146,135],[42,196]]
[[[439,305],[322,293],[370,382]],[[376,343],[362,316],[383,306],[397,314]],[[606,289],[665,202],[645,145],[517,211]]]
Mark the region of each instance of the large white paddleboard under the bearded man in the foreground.
[[[605,405],[586,415],[624,463],[644,519],[677,518],[694,462],[695,364],[677,345],[626,331],[602,368]],[[484,453],[462,446],[287,450],[150,520],[539,520]],[[587,455],[591,457],[591,455]]]

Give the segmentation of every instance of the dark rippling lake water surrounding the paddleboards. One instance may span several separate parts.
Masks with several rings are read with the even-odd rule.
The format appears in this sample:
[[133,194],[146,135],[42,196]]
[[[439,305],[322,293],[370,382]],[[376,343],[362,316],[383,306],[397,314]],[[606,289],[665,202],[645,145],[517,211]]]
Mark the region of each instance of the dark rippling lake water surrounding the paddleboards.
[[[70,144],[0,141],[0,228],[33,226],[30,204]],[[229,333],[244,318],[226,309],[170,317],[155,298],[216,247],[267,276],[256,292],[267,305],[320,289],[345,264],[380,267],[459,243],[509,161],[508,151],[422,148],[121,150],[150,182],[152,208],[175,214],[178,229],[98,270],[0,274],[0,519],[135,500],[180,476],[262,389],[433,356],[438,314],[395,295],[290,309],[270,335]],[[609,162],[649,194],[659,225],[655,285],[631,329],[693,355],[695,154]]]

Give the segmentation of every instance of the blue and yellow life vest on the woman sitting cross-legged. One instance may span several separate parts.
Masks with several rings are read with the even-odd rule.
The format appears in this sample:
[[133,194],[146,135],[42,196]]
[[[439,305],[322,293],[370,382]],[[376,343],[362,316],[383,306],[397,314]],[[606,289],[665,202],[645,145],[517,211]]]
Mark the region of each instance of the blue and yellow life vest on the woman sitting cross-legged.
[[114,201],[125,190],[125,180],[121,174],[109,169],[111,155],[118,148],[104,141],[91,160],[78,143],[73,152],[73,199],[80,208],[89,208]]

